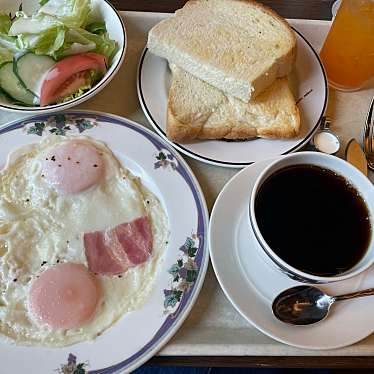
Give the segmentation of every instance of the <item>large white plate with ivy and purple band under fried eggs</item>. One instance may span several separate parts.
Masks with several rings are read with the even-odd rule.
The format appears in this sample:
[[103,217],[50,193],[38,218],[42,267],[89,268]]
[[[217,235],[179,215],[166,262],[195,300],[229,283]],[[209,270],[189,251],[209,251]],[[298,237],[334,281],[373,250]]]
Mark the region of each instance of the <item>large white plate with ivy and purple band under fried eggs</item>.
[[[158,196],[169,218],[170,238],[143,308],[124,315],[93,341],[63,348],[1,343],[0,371],[53,373],[67,370],[70,362],[75,367],[83,364],[80,374],[130,372],[178,330],[203,284],[209,261],[204,196],[185,161],[159,136],[127,119],[96,112],[38,115],[1,127],[0,168],[12,149],[38,142],[51,132],[56,136],[83,133],[105,142],[123,166]],[[172,276],[176,270],[179,280]]]

